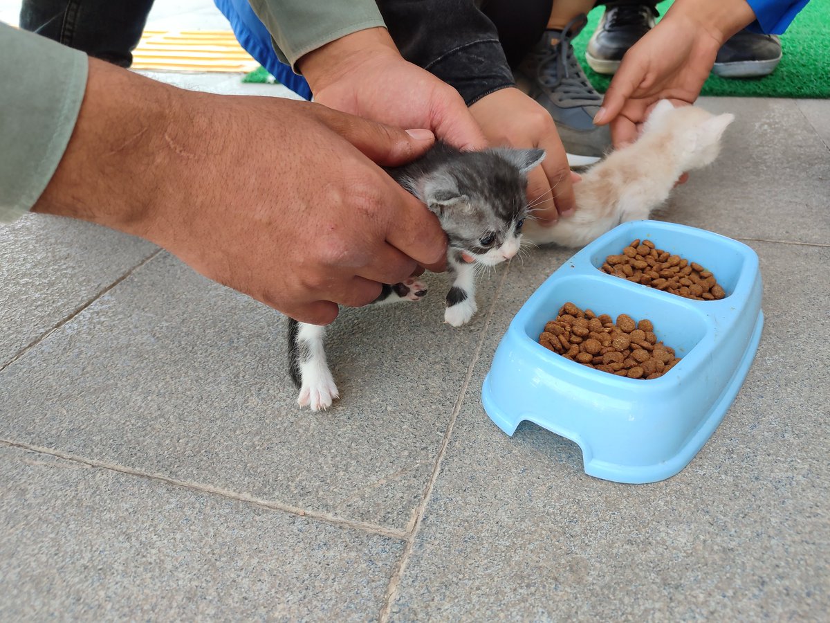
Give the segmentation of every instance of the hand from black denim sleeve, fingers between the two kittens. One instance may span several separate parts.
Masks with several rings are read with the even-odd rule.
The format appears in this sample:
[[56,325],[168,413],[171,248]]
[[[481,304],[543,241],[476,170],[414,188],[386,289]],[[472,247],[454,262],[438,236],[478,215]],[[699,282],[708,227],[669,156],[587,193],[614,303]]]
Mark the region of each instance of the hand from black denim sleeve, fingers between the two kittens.
[[491,145],[539,147],[545,151],[541,166],[528,174],[527,185],[528,202],[540,224],[555,223],[560,215],[574,211],[568,155],[553,118],[543,106],[510,87],[482,97],[470,106],[470,112]]

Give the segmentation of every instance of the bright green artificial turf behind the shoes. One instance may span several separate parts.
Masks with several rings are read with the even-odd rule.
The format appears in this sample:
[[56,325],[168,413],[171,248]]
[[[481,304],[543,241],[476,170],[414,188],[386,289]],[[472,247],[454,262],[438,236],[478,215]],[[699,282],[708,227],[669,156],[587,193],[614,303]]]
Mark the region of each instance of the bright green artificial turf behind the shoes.
[[[661,2],[665,14],[671,2]],[[588,80],[604,93],[611,76],[594,72],[585,61],[585,47],[603,15],[603,7],[588,14],[588,26],[574,39],[574,50]],[[701,96],[830,98],[830,7],[828,0],[812,0],[781,35],[782,57],[772,74],[763,78],[709,76]],[[263,68],[247,74],[243,82],[271,82]]]

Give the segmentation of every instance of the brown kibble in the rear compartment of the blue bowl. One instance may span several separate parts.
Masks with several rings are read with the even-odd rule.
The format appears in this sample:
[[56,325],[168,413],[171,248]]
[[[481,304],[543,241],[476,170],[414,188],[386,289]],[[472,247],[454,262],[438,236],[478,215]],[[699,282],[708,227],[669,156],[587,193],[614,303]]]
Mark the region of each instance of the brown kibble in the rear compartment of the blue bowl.
[[638,238],[620,255],[609,255],[600,270],[696,301],[720,300],[726,296],[715,276],[706,268],[655,248],[651,240],[641,243]]

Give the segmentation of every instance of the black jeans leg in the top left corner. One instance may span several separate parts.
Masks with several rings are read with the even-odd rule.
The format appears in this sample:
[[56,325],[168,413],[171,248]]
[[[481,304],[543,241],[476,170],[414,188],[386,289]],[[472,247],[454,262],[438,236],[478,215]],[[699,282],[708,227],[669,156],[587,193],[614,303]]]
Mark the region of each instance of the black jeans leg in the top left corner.
[[129,67],[153,0],[23,0],[20,27]]

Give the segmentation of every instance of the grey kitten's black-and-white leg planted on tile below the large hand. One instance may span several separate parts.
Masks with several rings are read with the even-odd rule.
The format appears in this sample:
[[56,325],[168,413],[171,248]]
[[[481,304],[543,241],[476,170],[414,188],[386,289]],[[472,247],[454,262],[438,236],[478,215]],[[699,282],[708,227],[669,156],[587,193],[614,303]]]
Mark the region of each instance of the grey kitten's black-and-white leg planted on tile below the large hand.
[[288,365],[291,379],[300,388],[297,404],[325,410],[339,397],[337,385],[325,361],[325,327],[288,319]]

